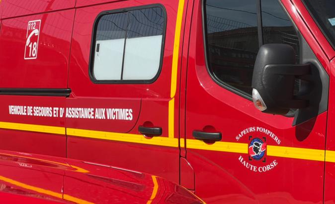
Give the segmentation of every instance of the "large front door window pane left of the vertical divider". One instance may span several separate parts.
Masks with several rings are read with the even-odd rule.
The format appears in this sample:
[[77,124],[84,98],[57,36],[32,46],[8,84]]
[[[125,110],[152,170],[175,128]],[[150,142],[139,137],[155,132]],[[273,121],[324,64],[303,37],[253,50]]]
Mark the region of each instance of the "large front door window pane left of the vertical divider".
[[251,94],[259,49],[256,0],[206,0],[208,66],[219,83]]

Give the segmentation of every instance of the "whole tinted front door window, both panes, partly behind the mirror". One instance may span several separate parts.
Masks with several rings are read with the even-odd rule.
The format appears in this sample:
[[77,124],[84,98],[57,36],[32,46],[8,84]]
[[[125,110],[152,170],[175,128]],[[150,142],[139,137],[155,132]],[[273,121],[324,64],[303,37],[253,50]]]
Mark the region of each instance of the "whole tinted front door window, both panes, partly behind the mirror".
[[251,96],[261,44],[289,44],[299,62],[297,32],[278,0],[205,0],[204,8],[208,68],[220,84]]

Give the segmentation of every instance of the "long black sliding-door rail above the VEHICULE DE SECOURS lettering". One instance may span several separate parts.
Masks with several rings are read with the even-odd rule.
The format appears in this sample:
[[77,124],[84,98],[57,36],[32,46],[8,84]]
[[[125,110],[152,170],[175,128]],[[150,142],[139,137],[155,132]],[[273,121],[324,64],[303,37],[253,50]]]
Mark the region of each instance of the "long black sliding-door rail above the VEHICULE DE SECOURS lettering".
[[0,88],[0,95],[69,97],[71,89],[17,89]]

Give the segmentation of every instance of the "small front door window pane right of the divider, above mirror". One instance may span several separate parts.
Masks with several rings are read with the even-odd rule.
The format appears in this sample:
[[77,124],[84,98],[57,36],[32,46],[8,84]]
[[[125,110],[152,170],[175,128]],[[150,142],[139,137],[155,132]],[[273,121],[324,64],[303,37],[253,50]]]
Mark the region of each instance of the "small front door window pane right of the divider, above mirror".
[[263,43],[291,45],[299,63],[299,38],[289,16],[278,0],[261,0]]

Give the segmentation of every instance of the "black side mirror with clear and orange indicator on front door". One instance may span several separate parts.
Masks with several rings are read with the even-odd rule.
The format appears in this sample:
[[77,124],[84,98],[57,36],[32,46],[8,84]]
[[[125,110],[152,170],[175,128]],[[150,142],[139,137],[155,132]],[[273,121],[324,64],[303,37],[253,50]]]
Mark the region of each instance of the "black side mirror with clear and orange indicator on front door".
[[295,56],[290,45],[265,44],[260,47],[252,76],[252,99],[262,112],[285,115],[290,108],[308,107],[309,101],[301,97],[305,94],[295,94],[294,85],[296,79],[311,74],[311,64],[295,64]]

